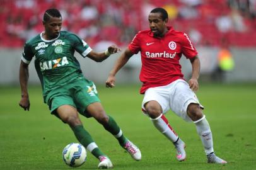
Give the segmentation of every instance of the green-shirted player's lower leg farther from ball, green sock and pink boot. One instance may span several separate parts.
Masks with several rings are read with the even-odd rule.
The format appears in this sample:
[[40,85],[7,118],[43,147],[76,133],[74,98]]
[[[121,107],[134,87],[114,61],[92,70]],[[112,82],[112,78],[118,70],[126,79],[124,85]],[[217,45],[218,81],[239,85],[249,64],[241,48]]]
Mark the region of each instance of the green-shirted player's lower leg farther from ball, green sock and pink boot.
[[103,124],[103,127],[119,141],[119,144],[127,150],[127,152],[131,155],[131,157],[136,160],[141,160],[141,150],[134,145],[130,140],[128,140],[126,137],[124,137],[124,134],[122,133],[122,130],[120,130],[119,126],[113,120],[112,116],[108,115],[108,123]]

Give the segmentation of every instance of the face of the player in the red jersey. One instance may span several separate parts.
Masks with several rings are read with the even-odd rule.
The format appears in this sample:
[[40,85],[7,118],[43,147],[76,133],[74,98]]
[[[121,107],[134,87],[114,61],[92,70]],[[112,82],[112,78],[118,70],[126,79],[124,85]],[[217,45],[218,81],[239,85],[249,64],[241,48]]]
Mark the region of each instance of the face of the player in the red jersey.
[[167,28],[167,19],[162,20],[161,13],[150,13],[148,16],[149,27],[155,37],[162,37],[165,35]]

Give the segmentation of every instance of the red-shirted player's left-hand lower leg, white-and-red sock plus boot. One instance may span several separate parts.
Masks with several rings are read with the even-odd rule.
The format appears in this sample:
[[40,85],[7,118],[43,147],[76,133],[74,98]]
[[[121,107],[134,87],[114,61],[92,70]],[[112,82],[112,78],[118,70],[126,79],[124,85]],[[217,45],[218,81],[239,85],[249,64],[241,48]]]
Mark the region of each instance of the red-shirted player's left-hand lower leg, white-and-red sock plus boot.
[[157,118],[150,118],[150,119],[153,122],[154,127],[156,127],[161,133],[163,133],[163,135],[165,135],[175,145],[175,148],[177,150],[177,155],[176,155],[177,160],[185,161],[185,158],[186,158],[185,143],[174,132],[165,115],[161,114]]

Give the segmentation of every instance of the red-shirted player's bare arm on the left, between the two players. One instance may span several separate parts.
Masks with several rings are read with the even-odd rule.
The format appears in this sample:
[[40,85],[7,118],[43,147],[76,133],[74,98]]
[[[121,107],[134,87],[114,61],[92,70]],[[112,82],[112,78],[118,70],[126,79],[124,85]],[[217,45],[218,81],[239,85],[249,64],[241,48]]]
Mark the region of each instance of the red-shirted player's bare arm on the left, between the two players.
[[115,87],[115,74],[127,63],[127,61],[132,57],[132,52],[129,48],[126,48],[125,51],[120,55],[119,59],[115,62],[112,71],[108,75],[106,81],[107,88]]

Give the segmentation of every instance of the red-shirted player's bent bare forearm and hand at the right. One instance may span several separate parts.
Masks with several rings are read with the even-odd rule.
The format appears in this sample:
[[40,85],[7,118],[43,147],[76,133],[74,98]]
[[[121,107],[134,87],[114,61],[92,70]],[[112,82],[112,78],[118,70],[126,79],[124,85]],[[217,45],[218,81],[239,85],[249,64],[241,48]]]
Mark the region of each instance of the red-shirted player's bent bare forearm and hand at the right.
[[200,60],[198,56],[190,59],[192,64],[192,76],[189,80],[189,87],[192,91],[197,91],[199,89],[198,79],[200,74]]

